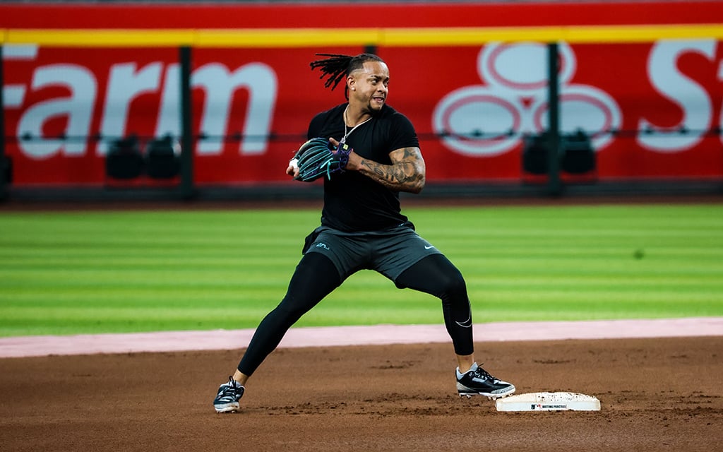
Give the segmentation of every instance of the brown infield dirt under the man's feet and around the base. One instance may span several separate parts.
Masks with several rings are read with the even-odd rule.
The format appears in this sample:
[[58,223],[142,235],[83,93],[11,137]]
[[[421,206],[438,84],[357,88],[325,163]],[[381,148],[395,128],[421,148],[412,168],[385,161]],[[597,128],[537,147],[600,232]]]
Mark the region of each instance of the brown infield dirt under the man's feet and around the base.
[[240,350],[0,359],[1,451],[723,451],[723,336],[479,342],[518,393],[600,412],[459,398],[449,344],[278,349],[211,401]]

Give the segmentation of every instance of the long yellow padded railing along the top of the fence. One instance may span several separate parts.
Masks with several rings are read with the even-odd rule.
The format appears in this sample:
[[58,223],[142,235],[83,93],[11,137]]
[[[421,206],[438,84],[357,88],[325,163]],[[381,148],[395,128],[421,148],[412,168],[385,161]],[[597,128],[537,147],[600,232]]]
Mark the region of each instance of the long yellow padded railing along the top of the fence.
[[0,43],[56,47],[475,46],[489,42],[641,43],[723,39],[723,24],[552,27],[296,28],[296,29],[0,29]]

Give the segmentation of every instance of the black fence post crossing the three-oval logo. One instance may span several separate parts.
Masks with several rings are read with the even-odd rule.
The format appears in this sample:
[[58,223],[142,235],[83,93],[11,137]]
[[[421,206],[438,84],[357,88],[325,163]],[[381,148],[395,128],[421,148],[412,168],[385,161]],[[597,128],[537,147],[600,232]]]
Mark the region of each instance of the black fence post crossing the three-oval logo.
[[562,192],[560,182],[560,77],[558,74],[557,43],[547,44],[547,83],[548,97],[548,145],[547,145],[547,192],[551,196],[559,196]]

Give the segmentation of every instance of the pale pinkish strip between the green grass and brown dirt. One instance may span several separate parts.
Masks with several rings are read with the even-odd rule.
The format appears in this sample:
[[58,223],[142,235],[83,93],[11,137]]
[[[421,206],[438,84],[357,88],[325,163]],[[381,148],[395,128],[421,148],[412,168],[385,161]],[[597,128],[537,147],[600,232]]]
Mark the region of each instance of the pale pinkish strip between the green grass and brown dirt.
[[[0,358],[243,349],[254,330],[19,336],[0,338]],[[723,336],[723,317],[474,325],[476,342]],[[450,341],[444,325],[291,328],[280,348],[428,344]]]

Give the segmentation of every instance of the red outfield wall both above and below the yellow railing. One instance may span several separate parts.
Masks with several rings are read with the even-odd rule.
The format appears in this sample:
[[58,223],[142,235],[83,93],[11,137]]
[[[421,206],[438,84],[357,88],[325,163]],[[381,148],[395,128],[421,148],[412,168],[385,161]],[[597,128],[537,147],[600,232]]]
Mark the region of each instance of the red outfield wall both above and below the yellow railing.
[[[344,33],[344,17],[369,29],[710,24],[723,23],[723,5],[0,5],[5,29],[330,27]],[[283,167],[309,119],[344,101],[341,88],[323,88],[309,61],[317,52],[361,51],[364,43],[335,46],[333,34],[323,47],[194,48],[194,132],[208,136],[194,150],[197,184],[288,183]],[[547,127],[543,44],[382,44],[377,53],[390,66],[389,104],[422,138],[430,182],[523,178],[523,135]],[[179,133],[176,48],[5,46],[3,56],[5,135],[44,137],[7,140],[17,186],[103,184],[107,145],[86,136]],[[600,180],[723,177],[719,40],[560,43],[560,63],[562,130],[591,135]],[[56,138],[61,135],[68,139]],[[218,139],[234,135],[245,138]]]

